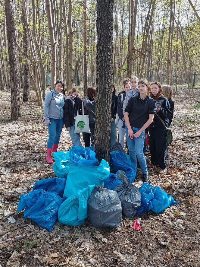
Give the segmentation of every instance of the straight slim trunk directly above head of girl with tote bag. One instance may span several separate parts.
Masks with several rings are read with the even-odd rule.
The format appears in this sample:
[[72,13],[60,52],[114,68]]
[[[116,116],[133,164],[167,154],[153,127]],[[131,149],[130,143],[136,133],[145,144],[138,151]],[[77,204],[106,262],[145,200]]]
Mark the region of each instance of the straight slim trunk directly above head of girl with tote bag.
[[73,29],[72,29],[72,1],[71,0],[69,0],[68,28],[69,28],[69,85],[68,85],[68,89],[71,89],[73,86]]

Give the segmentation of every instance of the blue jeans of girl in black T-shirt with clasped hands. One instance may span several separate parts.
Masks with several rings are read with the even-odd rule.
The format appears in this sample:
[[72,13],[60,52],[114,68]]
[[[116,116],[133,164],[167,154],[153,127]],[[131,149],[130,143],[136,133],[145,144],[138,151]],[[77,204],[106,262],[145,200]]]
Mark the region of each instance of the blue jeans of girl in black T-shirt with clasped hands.
[[[136,127],[131,127],[131,128],[134,133],[136,133],[140,129]],[[125,132],[126,132],[126,138],[127,138],[128,136],[127,126],[125,126]],[[148,171],[147,171],[146,159],[145,159],[145,155],[143,152],[144,141],[145,141],[145,131],[141,133],[139,138],[133,138],[133,139],[130,139],[130,137],[127,138],[127,145],[129,148],[129,156],[130,156],[130,160],[132,161],[132,163],[135,164],[137,167],[137,158],[138,158],[142,173],[147,174]]]

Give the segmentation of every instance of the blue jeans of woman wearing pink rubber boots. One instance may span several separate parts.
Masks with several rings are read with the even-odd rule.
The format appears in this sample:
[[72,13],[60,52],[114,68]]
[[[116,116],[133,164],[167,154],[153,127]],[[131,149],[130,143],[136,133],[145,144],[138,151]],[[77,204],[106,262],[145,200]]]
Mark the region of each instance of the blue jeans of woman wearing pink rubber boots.
[[60,140],[60,135],[63,128],[63,118],[62,119],[49,119],[51,124],[48,125],[48,141],[47,148],[52,148],[52,145],[58,145]]

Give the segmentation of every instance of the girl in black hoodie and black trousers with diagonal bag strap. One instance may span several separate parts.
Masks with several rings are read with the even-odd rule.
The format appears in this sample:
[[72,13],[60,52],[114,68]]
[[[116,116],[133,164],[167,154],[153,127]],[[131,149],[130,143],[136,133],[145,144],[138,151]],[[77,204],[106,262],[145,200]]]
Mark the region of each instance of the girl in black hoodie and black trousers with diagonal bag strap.
[[[162,173],[167,172],[167,159],[166,159],[166,127],[171,118],[170,103],[166,97],[162,95],[162,88],[159,82],[151,84],[151,97],[154,98],[157,111],[152,124],[150,125],[149,137],[149,150],[151,154],[152,165],[158,165]],[[166,127],[159,119],[164,121]]]

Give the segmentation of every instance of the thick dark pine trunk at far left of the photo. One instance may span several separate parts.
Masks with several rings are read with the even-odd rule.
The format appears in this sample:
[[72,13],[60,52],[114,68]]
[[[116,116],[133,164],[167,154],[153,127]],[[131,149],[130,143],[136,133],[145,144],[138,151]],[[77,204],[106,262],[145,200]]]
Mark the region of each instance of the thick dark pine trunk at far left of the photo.
[[11,120],[18,120],[20,113],[20,79],[17,65],[16,34],[14,28],[13,5],[11,0],[5,0],[5,18],[8,37],[8,56],[11,81]]

